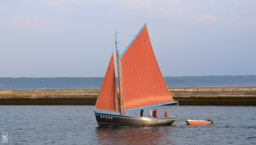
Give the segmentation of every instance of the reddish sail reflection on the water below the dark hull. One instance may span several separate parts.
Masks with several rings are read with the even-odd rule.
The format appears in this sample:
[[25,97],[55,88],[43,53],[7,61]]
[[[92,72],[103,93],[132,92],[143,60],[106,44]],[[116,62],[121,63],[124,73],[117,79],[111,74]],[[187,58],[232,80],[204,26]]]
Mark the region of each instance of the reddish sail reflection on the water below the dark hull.
[[174,126],[97,127],[98,144],[171,144]]

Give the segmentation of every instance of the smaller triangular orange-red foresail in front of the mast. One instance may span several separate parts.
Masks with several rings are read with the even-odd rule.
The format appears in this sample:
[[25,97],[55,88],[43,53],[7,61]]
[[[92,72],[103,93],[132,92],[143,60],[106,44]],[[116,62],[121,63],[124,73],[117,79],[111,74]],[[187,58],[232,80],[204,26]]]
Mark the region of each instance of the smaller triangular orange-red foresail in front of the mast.
[[116,91],[116,75],[114,67],[114,52],[108,64],[108,70],[102,83],[94,109],[104,109],[110,111],[121,112]]

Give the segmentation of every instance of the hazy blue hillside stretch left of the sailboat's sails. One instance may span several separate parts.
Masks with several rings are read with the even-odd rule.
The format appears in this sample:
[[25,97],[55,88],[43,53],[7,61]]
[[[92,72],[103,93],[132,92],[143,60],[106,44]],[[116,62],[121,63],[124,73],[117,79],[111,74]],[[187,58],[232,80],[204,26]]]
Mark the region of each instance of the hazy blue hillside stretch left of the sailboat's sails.
[[103,78],[0,78],[0,90],[100,88]]

